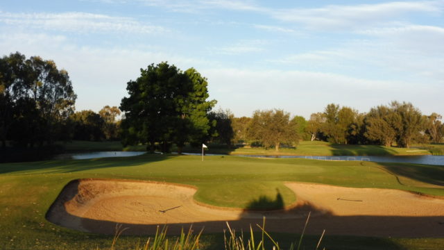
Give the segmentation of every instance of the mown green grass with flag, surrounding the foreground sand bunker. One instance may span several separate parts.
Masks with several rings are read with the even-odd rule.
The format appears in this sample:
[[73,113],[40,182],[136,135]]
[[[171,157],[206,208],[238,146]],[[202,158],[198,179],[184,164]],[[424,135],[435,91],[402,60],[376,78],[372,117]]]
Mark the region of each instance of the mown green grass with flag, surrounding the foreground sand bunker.
[[[144,155],[133,158],[44,161],[0,165],[1,249],[99,249],[111,237],[78,233],[46,222],[44,215],[60,190],[76,178],[127,178],[196,185],[195,199],[216,206],[243,208],[260,196],[273,199],[276,189],[284,203],[296,201],[284,181],[325,183],[357,188],[393,188],[444,196],[443,166],[325,162],[305,159],[261,159],[236,156]],[[296,235],[280,234],[282,242]],[[124,237],[119,247],[137,244]],[[204,243],[223,246],[221,235],[206,235]],[[316,242],[308,238],[307,244]],[[328,249],[439,249],[444,239],[377,239],[334,237]],[[371,244],[368,242],[372,242]],[[314,243],[316,245],[316,243]],[[308,245],[306,249],[314,249]]]

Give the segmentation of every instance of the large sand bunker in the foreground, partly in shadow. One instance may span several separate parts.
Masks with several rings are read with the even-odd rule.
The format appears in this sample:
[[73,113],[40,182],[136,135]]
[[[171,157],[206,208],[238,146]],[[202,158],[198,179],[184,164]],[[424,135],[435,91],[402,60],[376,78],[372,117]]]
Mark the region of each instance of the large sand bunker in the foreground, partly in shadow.
[[[240,230],[262,224],[266,230],[393,237],[444,237],[444,200],[400,190],[343,188],[313,183],[286,183],[298,201],[283,210],[219,208],[194,201],[196,188],[155,181],[88,178],[69,182],[46,213],[49,222],[90,233],[153,234],[157,225],[169,233],[181,228],[222,232],[225,222]],[[402,206],[401,206],[402,205]]]

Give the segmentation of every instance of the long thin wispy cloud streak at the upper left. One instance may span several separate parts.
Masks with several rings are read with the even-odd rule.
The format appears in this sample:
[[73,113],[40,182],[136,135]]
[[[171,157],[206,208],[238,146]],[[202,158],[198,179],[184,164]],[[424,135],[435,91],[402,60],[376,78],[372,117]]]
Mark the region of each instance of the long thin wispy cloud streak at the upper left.
[[0,23],[44,30],[78,33],[163,33],[162,26],[138,22],[129,17],[112,17],[87,12],[10,13],[0,12]]

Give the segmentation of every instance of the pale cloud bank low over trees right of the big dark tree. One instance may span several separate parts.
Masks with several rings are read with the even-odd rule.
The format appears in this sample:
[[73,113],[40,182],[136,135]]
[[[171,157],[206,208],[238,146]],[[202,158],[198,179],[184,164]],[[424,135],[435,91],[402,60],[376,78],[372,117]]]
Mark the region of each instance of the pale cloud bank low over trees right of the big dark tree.
[[[328,103],[367,112],[392,100],[411,101],[425,113],[443,113],[434,100],[444,86],[430,91],[429,85],[401,81],[371,81],[341,74],[284,70],[205,69],[210,96],[219,106],[237,116],[250,116],[254,110],[283,108],[292,115],[309,117]],[[441,110],[438,110],[440,109]]]

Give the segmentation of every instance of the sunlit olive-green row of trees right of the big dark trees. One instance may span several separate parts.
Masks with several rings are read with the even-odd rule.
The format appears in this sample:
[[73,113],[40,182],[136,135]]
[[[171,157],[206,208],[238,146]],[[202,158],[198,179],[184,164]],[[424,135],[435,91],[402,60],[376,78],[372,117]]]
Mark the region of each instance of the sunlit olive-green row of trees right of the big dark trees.
[[[225,113],[230,119],[233,144],[275,147],[276,150],[280,144],[294,147],[300,140],[408,148],[412,143],[440,143],[444,136],[441,115],[423,115],[411,103],[398,101],[376,106],[368,113],[331,103],[323,112],[311,114],[308,120],[291,117],[278,109],[256,110],[253,117],[234,117],[229,110],[219,110],[219,113]],[[223,141],[227,142],[228,138]]]

